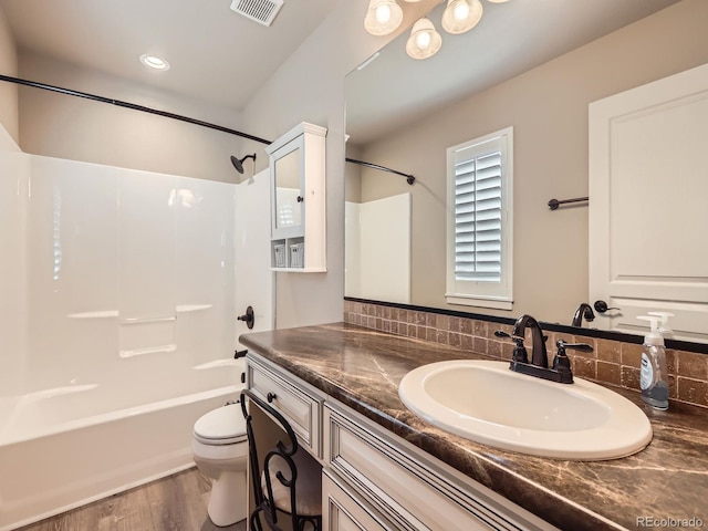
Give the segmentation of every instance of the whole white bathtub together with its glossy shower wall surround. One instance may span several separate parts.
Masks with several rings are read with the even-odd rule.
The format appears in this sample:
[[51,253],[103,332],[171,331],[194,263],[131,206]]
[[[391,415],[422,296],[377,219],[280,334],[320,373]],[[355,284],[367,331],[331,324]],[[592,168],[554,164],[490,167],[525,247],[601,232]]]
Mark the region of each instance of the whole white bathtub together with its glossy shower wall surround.
[[243,362],[236,185],[2,147],[6,531],[194,466]]

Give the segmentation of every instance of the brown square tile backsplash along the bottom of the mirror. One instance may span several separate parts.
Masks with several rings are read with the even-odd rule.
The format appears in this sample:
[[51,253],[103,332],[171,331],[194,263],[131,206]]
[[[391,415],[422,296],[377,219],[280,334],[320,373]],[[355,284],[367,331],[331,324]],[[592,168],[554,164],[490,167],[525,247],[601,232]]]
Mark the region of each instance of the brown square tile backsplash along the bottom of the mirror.
[[[500,360],[511,360],[513,350],[511,342],[494,336],[497,330],[511,333],[511,325],[478,319],[344,301],[344,322],[469,350]],[[568,351],[574,375],[627,389],[639,389],[642,345],[581,334],[544,332],[549,336],[549,358],[555,354],[555,342],[561,339],[593,346],[593,352],[589,353]],[[708,407],[708,355],[671,348],[667,348],[666,355],[669,398]]]

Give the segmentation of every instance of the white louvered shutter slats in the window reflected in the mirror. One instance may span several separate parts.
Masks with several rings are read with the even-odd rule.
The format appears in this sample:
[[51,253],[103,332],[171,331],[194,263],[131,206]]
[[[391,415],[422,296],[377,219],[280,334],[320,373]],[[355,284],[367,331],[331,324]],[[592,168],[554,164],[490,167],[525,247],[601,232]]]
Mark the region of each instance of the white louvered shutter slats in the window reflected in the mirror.
[[501,281],[501,152],[455,164],[455,279]]

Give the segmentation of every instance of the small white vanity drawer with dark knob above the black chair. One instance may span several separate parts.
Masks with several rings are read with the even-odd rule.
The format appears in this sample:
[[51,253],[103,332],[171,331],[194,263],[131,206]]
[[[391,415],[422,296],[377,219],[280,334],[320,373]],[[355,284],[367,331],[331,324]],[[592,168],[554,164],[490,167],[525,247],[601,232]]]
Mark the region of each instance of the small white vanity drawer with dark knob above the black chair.
[[309,394],[302,382],[253,360],[248,358],[248,385],[261,399],[267,400],[285,417],[298,441],[315,457],[321,454],[322,399]]

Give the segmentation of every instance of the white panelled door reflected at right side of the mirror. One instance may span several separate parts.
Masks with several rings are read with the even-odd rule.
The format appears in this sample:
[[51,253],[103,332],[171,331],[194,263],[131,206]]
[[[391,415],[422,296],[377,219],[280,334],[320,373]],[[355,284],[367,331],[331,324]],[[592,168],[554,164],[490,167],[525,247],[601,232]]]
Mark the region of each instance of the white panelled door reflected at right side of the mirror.
[[675,314],[708,341],[708,64],[590,105],[590,301],[595,325]]

